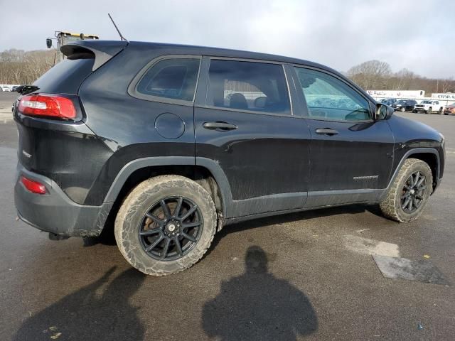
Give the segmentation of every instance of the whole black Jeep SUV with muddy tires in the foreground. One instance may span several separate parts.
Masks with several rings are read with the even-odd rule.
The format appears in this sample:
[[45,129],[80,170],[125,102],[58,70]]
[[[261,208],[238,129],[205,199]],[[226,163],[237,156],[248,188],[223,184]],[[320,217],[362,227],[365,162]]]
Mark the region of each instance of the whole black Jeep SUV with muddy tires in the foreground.
[[113,222],[125,259],[166,275],[223,226],[353,202],[409,222],[444,136],[304,60],[80,40],[14,104],[21,220],[59,239]]

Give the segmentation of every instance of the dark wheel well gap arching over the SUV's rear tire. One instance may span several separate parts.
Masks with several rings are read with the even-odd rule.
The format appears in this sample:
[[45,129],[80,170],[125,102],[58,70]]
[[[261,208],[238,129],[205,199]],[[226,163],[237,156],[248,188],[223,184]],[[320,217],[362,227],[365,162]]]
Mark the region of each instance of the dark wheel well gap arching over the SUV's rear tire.
[[[117,198],[112,206],[109,216],[105,222],[105,227],[102,229],[102,236],[104,235],[107,239],[111,239],[114,233],[114,222],[117,212],[119,211],[120,206],[125,197],[144,180],[149,178],[154,178],[158,175],[181,175],[186,178],[189,178],[199,185],[201,185],[213,199],[215,203],[215,208],[218,213],[218,217],[223,217],[223,197],[220,193],[220,188],[218,183],[213,177],[212,173],[208,171],[207,168],[201,166],[150,166],[139,168],[134,171],[127,180],[124,182],[122,189],[117,195]],[[220,222],[218,222],[218,230],[221,228]]]

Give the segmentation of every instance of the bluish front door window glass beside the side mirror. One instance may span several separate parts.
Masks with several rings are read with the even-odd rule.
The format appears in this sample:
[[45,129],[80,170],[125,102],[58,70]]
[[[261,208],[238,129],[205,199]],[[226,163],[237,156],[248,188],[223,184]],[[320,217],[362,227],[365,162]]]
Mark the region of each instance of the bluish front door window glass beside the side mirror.
[[310,117],[360,121],[370,119],[370,105],[358,92],[324,72],[294,67]]

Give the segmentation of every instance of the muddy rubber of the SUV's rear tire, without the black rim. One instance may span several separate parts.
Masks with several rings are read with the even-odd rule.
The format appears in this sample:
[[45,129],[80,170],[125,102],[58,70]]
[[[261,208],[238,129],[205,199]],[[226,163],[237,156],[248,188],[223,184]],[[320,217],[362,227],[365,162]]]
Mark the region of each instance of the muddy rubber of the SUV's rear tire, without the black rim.
[[[142,217],[148,208],[144,206],[144,200],[151,196],[159,197],[159,193],[169,190],[169,188],[188,188],[200,199],[202,205],[198,203],[198,207],[203,215],[203,231],[198,243],[183,258],[175,261],[158,261],[147,256],[139,244],[132,245],[132,242],[128,240],[128,233],[134,235],[134,231],[137,231],[139,224],[137,217]],[[130,224],[130,221],[133,222]],[[181,175],[159,175],[139,183],[127,195],[117,213],[114,234],[117,246],[129,264],[144,274],[165,276],[176,274],[196,264],[210,247],[215,236],[216,226],[215,204],[210,194],[201,185]]]

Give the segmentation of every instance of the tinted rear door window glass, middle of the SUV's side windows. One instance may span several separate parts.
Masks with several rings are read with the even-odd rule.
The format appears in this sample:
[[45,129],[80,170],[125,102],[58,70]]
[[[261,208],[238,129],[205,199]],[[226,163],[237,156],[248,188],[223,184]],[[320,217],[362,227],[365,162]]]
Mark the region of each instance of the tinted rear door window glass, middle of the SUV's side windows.
[[282,65],[210,60],[206,104],[220,108],[291,114]]

